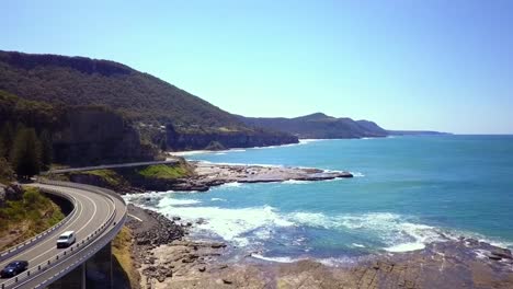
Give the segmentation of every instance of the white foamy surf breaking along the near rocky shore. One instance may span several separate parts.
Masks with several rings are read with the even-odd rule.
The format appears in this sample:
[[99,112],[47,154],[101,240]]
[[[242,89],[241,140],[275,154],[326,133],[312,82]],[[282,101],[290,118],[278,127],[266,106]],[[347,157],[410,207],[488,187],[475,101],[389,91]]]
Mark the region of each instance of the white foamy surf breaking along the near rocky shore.
[[[226,184],[239,186],[239,183]],[[207,222],[195,227],[194,230],[213,233],[226,241],[244,246],[274,238],[277,228],[310,227],[326,230],[337,230],[350,234],[368,238],[381,244],[388,252],[406,252],[423,248],[425,244],[436,241],[456,240],[459,235],[469,235],[456,231],[420,223],[413,218],[390,212],[342,213],[326,215],[312,211],[281,212],[271,206],[248,208],[220,208],[216,206],[203,207],[197,199],[175,198],[176,193],[158,194],[146,193],[125,197],[127,200],[137,198],[158,197],[158,205],[153,207],[164,216],[180,216],[185,220],[204,218]],[[221,200],[212,198],[212,201]],[[136,201],[136,204],[138,204]],[[141,206],[149,206],[145,201]],[[155,205],[152,205],[155,206]],[[481,239],[482,238],[476,238]],[[497,242],[488,243],[498,244]],[[498,244],[511,247],[511,244]],[[364,247],[353,243],[355,247]]]

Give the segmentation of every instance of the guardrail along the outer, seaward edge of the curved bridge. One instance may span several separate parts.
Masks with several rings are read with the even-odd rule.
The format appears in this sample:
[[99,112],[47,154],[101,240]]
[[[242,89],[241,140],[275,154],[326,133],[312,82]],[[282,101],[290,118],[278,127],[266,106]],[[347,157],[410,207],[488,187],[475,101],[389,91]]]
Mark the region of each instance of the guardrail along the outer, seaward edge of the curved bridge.
[[[125,204],[125,201],[119,195],[117,195],[115,192],[110,190],[110,189],[103,189],[103,188],[89,186],[89,185],[81,185],[81,184],[79,185],[75,183],[66,183],[66,182],[57,182],[57,181],[43,181],[41,183],[48,184],[48,185],[57,185],[57,186],[86,189],[86,190],[93,192],[96,194],[107,195],[110,198],[116,197],[119,200],[122,200],[123,204]],[[43,188],[43,189],[46,190],[47,188]],[[88,236],[86,236],[81,241],[71,245],[69,248],[57,254],[55,257],[48,258],[37,264],[36,266],[34,266],[36,269],[26,270],[22,273],[21,275],[9,279],[7,282],[1,284],[0,288],[1,289],[19,288],[23,286],[24,284],[31,281],[33,278],[37,277],[38,275],[43,274],[44,271],[48,270],[50,267],[55,267],[61,264],[62,262],[68,261],[71,256],[77,256],[78,254],[79,256],[77,256],[77,258],[75,258],[75,261],[71,264],[69,264],[68,266],[66,266],[64,269],[59,270],[58,273],[54,274],[49,278],[45,279],[44,281],[39,282],[37,286],[35,286],[35,288],[48,286],[53,281],[57,280],[61,276],[66,275],[67,273],[69,273],[70,270],[75,269],[80,264],[89,259],[93,254],[95,254],[103,246],[105,246],[109,242],[111,242],[114,239],[114,236],[119,232],[123,224],[125,223],[126,215],[127,215],[127,210],[125,206],[122,219],[118,222],[114,222],[114,228],[112,228],[105,234],[105,238],[103,240],[101,240],[100,242],[93,243],[93,241],[96,240],[99,235],[104,233],[106,228],[113,222],[116,216],[116,208],[114,206],[113,212],[110,215],[107,220],[103,222],[100,228],[94,230],[94,232],[90,233]],[[90,250],[88,250],[88,247],[90,247]]]

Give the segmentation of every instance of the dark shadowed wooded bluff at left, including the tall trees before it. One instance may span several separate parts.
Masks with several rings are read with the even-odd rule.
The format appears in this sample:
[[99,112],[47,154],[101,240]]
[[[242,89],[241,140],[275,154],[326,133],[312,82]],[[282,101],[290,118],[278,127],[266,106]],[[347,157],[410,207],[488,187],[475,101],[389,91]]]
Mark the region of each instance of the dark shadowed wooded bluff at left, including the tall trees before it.
[[[155,148],[121,115],[101,106],[27,101],[0,90],[0,163],[19,177],[52,163],[90,165],[152,160]],[[0,171],[9,178],[9,171]]]

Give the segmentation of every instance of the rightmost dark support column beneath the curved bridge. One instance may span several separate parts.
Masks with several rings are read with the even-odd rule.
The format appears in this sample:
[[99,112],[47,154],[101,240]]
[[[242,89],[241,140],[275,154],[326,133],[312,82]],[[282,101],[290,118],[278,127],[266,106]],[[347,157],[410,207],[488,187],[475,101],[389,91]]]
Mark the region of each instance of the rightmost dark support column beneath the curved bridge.
[[113,288],[111,242],[86,262],[88,289]]

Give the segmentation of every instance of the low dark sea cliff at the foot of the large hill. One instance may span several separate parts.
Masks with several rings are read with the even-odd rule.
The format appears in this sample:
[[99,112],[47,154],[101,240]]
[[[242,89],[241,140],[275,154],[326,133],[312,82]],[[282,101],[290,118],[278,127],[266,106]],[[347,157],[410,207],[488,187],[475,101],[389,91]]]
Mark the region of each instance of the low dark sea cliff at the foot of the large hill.
[[297,142],[297,137],[282,132],[180,132],[171,125],[167,126],[167,143],[173,150],[251,148]]

